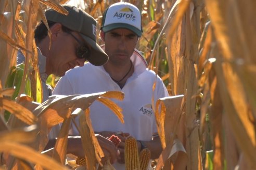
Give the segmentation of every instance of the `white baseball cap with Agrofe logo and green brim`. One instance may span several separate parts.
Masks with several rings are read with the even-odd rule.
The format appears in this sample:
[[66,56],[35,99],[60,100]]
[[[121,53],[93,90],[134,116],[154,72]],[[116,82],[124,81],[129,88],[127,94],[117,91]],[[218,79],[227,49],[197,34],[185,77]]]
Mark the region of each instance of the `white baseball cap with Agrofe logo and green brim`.
[[138,37],[142,36],[142,15],[135,5],[119,2],[110,5],[104,12],[103,32],[121,28],[133,31]]

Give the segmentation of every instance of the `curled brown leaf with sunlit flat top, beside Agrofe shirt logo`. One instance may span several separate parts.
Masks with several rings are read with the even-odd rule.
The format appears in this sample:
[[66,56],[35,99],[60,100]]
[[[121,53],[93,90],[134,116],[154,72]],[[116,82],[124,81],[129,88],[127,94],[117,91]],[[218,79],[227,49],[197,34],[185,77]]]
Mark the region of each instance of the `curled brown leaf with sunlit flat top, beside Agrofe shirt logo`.
[[[159,106],[161,106],[160,114],[158,111]],[[179,159],[173,162],[176,167],[184,167],[182,165],[187,164],[187,154],[181,142],[184,140],[182,138],[182,134],[184,134],[184,119],[182,119],[183,106],[184,95],[164,97],[157,101],[155,115],[163,151],[159,157],[156,169],[161,169],[175,153],[179,157]],[[175,139],[176,136],[180,139]]]

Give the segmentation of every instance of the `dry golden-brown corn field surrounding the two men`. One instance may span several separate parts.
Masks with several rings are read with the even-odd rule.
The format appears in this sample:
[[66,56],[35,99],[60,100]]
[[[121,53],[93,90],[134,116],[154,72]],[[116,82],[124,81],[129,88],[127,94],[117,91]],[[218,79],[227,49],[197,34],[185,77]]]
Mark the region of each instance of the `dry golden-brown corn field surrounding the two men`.
[[[99,31],[104,10],[116,2],[84,0],[78,6],[97,20]],[[152,169],[256,169],[256,1],[129,2],[142,11],[136,48],[170,94],[153,106],[163,151]],[[110,100],[122,100],[119,92],[61,96],[31,109],[42,101],[34,29],[46,20],[45,9],[65,13],[60,6],[65,3],[0,0],[0,169],[68,169],[74,117],[85,126],[80,127],[89,160],[84,168],[97,169],[103,151],[89,121],[89,103],[105,103],[123,121]],[[97,41],[103,43],[99,36]],[[16,67],[18,49],[25,63]],[[56,77],[48,82],[54,87]],[[61,122],[63,138],[43,152],[49,129]]]

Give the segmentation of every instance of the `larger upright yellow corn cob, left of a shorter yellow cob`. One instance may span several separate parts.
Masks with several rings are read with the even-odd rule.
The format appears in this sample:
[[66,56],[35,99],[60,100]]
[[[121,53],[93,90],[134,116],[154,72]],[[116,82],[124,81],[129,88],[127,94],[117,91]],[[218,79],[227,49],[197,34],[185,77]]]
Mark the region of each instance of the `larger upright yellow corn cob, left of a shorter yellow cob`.
[[134,137],[127,137],[124,144],[125,170],[139,170],[137,141]]

